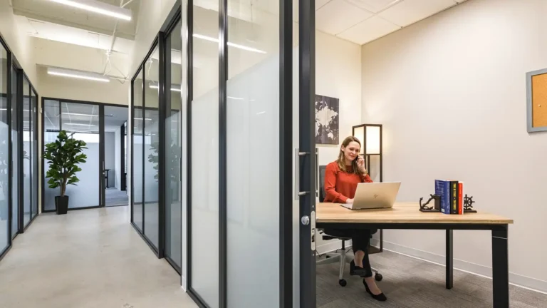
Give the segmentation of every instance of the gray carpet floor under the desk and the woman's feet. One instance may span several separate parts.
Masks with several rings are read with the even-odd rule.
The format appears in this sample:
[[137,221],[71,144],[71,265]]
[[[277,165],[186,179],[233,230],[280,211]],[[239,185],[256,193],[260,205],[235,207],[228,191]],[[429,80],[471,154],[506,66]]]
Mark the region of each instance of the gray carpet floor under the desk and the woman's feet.
[[[365,292],[363,279],[350,277],[346,287],[338,284],[338,265],[317,267],[317,307],[486,308],[492,307],[491,279],[454,270],[454,288],[444,287],[444,267],[394,252],[370,255],[373,267],[383,275],[378,287],[387,302],[377,302]],[[511,308],[547,307],[547,295],[509,286]]]

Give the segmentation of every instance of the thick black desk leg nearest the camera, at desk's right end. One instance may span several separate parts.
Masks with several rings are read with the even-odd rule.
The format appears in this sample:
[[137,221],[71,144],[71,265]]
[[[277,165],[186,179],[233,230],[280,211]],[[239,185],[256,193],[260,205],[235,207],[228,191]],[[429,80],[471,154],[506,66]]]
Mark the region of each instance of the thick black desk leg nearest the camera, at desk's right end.
[[507,225],[492,230],[492,280],[494,283],[494,307],[509,308],[509,253]]

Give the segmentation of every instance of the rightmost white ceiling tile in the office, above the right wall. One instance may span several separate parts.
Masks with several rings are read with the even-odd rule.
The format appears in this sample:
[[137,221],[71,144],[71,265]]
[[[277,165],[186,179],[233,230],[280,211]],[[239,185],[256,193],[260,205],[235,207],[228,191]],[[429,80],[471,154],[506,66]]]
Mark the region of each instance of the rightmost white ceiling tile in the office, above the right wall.
[[408,26],[454,5],[453,0],[404,0],[379,15],[399,26]]

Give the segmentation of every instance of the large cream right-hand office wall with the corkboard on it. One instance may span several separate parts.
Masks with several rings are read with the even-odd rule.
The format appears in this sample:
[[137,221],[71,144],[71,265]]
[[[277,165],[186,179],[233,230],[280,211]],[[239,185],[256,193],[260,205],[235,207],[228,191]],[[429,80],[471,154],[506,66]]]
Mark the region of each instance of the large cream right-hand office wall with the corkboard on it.
[[[547,291],[547,135],[526,133],[525,73],[547,67],[547,1],[470,0],[363,46],[363,121],[384,125],[399,200],[464,181],[476,210],[511,217],[511,282]],[[444,263],[443,231],[385,247]],[[454,232],[454,265],[491,275],[491,235]]]

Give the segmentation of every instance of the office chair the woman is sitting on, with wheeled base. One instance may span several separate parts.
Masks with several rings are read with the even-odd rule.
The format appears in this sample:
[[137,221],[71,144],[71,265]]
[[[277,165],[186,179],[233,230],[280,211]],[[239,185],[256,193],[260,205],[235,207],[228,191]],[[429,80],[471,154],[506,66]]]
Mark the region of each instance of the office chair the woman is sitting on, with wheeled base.
[[[321,188],[319,189],[319,202],[323,202],[325,200],[325,169],[327,166],[322,165],[319,166],[319,185],[321,185]],[[338,274],[338,284],[340,286],[345,287],[348,282],[344,279],[344,270],[345,270],[345,264],[350,263],[351,260],[353,260],[353,257],[351,255],[347,255],[347,251],[345,250],[345,241],[351,240],[348,237],[335,237],[333,235],[325,234],[323,230],[317,230],[319,235],[322,235],[323,240],[341,240],[342,241],[342,247],[335,252],[328,252],[326,254],[325,259],[318,260],[316,262],[316,265],[326,265],[326,264],[332,264],[332,263],[340,263],[340,273]],[[372,235],[370,236],[372,238]],[[373,272],[375,272],[374,279],[376,281],[381,281],[383,279],[382,274],[378,272],[375,268],[373,268]],[[365,284],[365,279],[363,279],[363,284]]]

